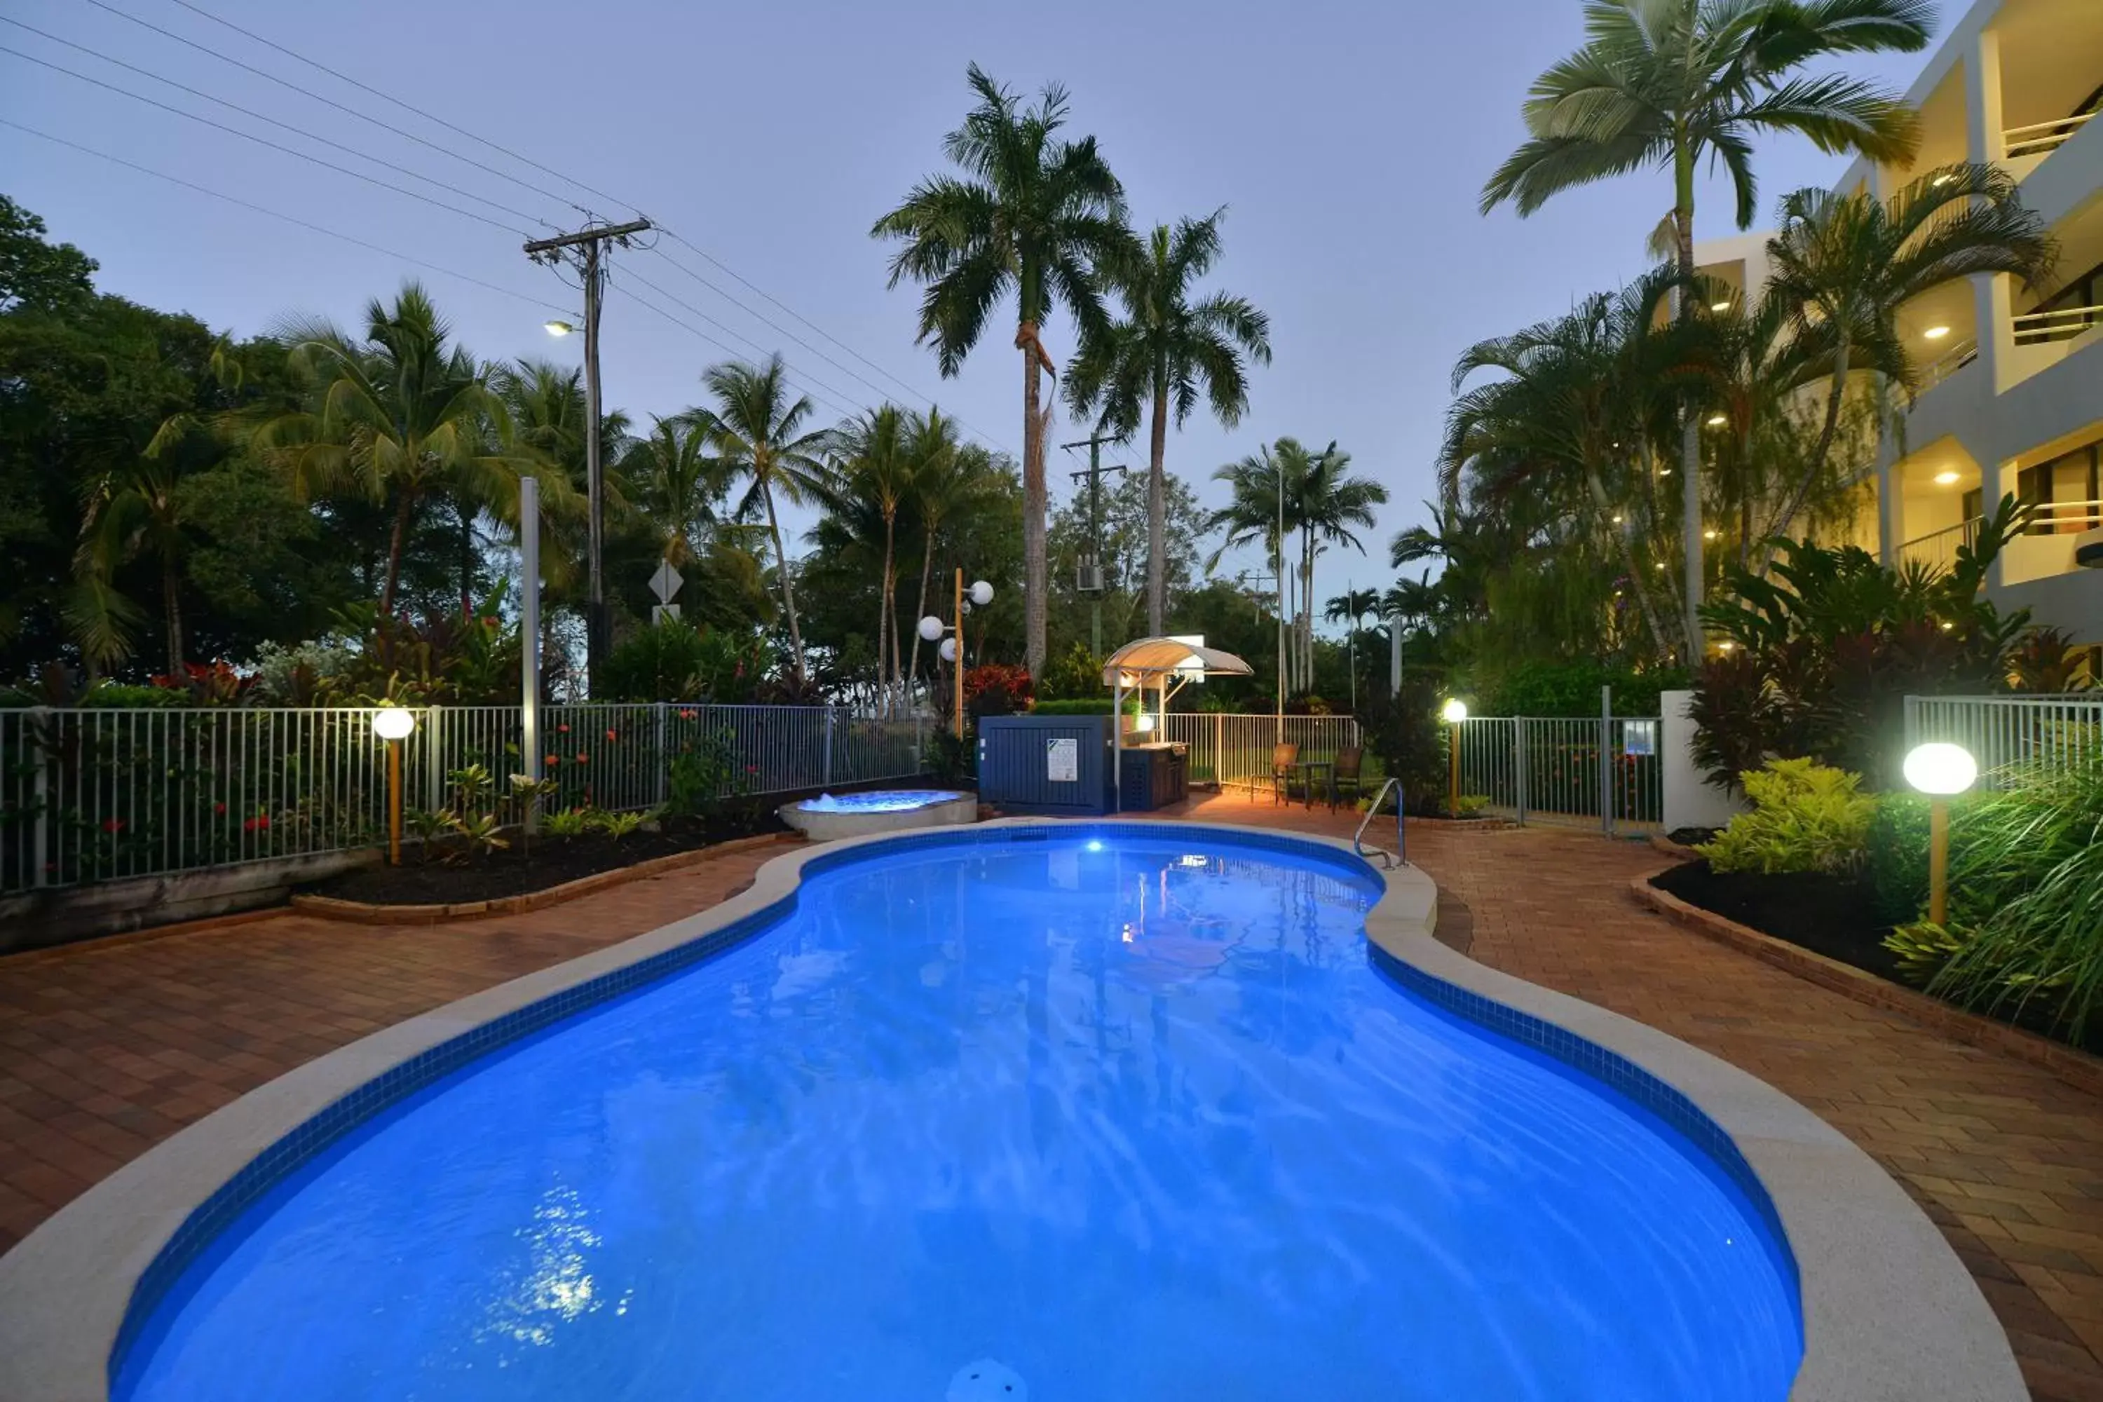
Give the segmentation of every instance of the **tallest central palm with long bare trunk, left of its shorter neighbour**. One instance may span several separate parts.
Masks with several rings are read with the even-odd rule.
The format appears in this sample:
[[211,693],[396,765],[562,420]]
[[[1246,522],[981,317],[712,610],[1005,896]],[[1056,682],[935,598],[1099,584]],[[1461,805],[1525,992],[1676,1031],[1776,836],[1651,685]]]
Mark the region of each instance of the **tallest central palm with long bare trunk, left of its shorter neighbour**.
[[1129,240],[1125,191],[1094,137],[1064,141],[1066,90],[1045,86],[1035,107],[967,71],[978,105],[942,149],[959,174],[934,174],[879,219],[875,238],[904,240],[890,286],[925,284],[919,338],[932,341],[944,376],[957,374],[986,330],[993,307],[1016,296],[1022,351],[1022,624],[1030,675],[1045,662],[1045,427],[1041,374],[1054,374],[1039,332],[1058,307],[1083,336],[1104,330],[1094,265]]

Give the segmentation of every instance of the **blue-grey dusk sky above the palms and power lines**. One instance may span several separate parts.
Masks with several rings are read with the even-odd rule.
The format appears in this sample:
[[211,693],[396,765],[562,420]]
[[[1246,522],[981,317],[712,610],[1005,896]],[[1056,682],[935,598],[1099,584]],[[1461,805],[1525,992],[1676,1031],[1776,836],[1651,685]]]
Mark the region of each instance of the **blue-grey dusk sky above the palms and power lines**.
[[[1666,174],[1577,191],[1533,219],[1476,214],[1485,177],[1520,141],[1533,76],[1581,42],[1579,0],[1476,4],[667,4],[599,0],[458,4],[366,0],[355,8],[200,0],[246,29],[309,55],[564,177],[511,162],[444,126],[240,34],[175,0],[4,0],[0,46],[149,95],[215,122],[368,170],[475,223],[347,174],[187,122],[107,88],[0,53],[0,120],[206,185],[345,235],[414,254],[532,305],[397,256],[355,248],[166,181],[0,126],[0,191],[50,233],[101,261],[99,286],[215,328],[252,334],[288,313],[358,319],[366,298],[423,277],[482,357],[574,364],[578,338],[540,324],[578,294],[530,265],[509,227],[545,227],[475,204],[482,195],[574,227],[559,200],[393,137],[311,97],[240,71],[111,13],[252,63],[311,92],[412,130],[437,147],[517,172],[604,217],[641,210],[738,277],[824,328],[877,368],[795,322],[692,248],[618,254],[606,317],[606,395],[639,420],[700,399],[702,366],[780,349],[805,391],[860,410],[887,376],[934,397],[993,446],[1020,456],[1020,357],[1012,305],[963,374],[944,383],[913,345],[917,290],[885,290],[890,248],[869,225],[923,174],[967,107],[969,61],[1022,90],[1047,80],[1073,95],[1073,132],[1094,132],[1140,225],[1230,206],[1226,259],[1211,286],[1270,313],[1274,364],[1253,376],[1251,412],[1232,431],[1207,418],[1169,437],[1169,471],[1218,502],[1211,471],[1291,433],[1338,439],[1392,500],[1367,555],[1331,553],[1319,597],[1386,584],[1386,542],[1424,517],[1432,454],[1455,355],[1489,334],[1563,311],[1640,271],[1666,212]],[[1943,19],[1952,17],[1945,11]],[[151,78],[63,48],[34,25],[101,55],[320,132],[450,187],[273,130]],[[1905,86],[1924,55],[1857,61]],[[1760,204],[1830,183],[1844,162],[1800,141],[1760,149]],[[1703,189],[1699,233],[1731,231],[1720,185]],[[740,311],[667,261],[677,259],[801,341]],[[656,284],[656,290],[648,284]],[[715,336],[709,345],[656,311]],[[669,296],[667,296],[669,294]],[[696,311],[730,330],[709,326]],[[1070,355],[1064,324],[1045,332]],[[726,349],[728,347],[728,349]],[[822,353],[822,355],[820,355]],[[835,364],[826,364],[831,357]],[[841,368],[845,366],[845,368]],[[860,378],[858,378],[860,376]],[[869,380],[869,383],[862,383]],[[873,389],[875,387],[875,389]],[[831,420],[835,408],[820,404]],[[1066,414],[1054,441],[1085,435]],[[1144,437],[1115,460],[1144,465]],[[1083,462],[1052,452],[1054,498]],[[1258,561],[1230,561],[1226,568]],[[1020,584],[1014,580],[1012,584]]]

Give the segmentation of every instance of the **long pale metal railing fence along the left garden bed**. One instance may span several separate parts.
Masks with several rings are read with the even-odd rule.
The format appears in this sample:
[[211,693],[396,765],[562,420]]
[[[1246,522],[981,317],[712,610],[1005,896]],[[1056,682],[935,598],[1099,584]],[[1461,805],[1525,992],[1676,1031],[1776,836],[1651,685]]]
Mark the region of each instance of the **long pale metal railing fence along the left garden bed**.
[[[517,706],[429,706],[402,742],[404,807],[482,765],[524,771]],[[835,706],[543,706],[549,807],[644,809],[908,778],[925,725]],[[0,893],[341,851],[387,822],[368,708],[0,710]]]

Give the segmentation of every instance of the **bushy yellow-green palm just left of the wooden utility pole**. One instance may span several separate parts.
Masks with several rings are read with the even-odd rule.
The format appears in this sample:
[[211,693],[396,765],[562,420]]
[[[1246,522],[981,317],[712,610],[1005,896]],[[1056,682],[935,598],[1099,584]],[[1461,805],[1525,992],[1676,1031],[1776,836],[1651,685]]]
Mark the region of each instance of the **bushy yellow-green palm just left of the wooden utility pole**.
[[257,429],[254,446],[282,462],[301,496],[355,490],[393,507],[381,614],[395,612],[402,549],[427,500],[448,494],[467,528],[473,511],[517,513],[530,467],[507,446],[511,414],[475,357],[416,282],[393,307],[366,303],[366,336],[328,322],[292,322],[292,364],[315,378],[315,404]]

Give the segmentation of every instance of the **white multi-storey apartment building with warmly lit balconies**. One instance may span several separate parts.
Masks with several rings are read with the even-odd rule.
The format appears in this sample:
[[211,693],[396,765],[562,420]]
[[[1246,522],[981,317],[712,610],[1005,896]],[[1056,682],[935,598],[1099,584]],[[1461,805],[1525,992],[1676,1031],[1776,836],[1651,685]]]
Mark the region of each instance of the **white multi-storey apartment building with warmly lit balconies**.
[[[1901,313],[1922,389],[1880,446],[1859,538],[1886,563],[1947,563],[2013,492],[2038,511],[1996,561],[1989,597],[2103,645],[2103,0],[1977,0],[1910,97],[1914,164],[1859,160],[1840,189],[1888,195],[1937,166],[1994,162],[2061,256],[2042,288],[1975,277]],[[1758,288],[1767,235],[1716,240],[1697,259]]]

